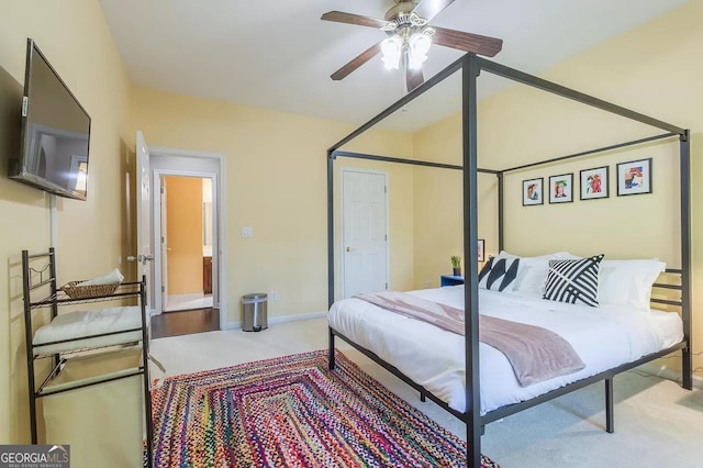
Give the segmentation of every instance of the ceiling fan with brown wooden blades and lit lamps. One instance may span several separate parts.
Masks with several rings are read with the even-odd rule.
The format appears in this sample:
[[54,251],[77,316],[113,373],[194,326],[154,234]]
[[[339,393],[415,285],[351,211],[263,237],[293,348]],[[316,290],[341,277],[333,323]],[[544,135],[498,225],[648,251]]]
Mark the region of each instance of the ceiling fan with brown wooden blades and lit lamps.
[[422,64],[427,58],[429,46],[434,44],[459,51],[472,52],[493,57],[503,47],[503,40],[428,26],[427,22],[450,5],[454,0],[394,0],[383,20],[359,14],[330,11],[322,15],[324,21],[377,27],[388,34],[383,41],[353,58],[332,74],[333,80],[341,80],[368,60],[383,54],[387,68],[405,70],[405,88],[410,92],[424,82]]

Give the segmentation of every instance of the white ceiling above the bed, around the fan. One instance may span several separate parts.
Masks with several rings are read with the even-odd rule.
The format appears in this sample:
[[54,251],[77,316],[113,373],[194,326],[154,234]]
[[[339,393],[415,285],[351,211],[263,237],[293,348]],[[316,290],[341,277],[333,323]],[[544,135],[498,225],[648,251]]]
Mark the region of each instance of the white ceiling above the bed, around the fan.
[[[321,21],[332,10],[383,18],[392,0],[100,0],[134,83],[153,89],[362,124],[404,93],[380,57],[341,81],[330,75],[384,37]],[[538,74],[685,0],[456,0],[431,25],[503,38],[493,59]],[[433,46],[425,79],[461,56]],[[483,79],[479,97],[506,86]],[[415,131],[459,109],[434,93],[393,125]],[[389,126],[392,126],[389,123]]]

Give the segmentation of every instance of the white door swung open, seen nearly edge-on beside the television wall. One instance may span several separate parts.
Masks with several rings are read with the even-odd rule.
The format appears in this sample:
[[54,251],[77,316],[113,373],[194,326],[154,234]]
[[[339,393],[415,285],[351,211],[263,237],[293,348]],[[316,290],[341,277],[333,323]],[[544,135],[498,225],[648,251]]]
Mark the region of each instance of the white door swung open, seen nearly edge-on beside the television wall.
[[152,280],[152,215],[150,215],[149,151],[142,132],[136,132],[136,263],[137,278],[146,276],[147,303],[154,303]]

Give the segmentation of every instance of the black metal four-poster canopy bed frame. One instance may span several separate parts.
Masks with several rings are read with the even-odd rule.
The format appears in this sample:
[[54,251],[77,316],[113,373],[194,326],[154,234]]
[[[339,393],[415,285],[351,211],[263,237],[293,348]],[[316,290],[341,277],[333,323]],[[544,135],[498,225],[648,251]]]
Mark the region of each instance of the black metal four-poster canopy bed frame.
[[[405,104],[417,98],[422,93],[426,92],[437,83],[442,82],[445,78],[449,77],[454,73],[462,71],[462,141],[464,141],[464,155],[462,165],[448,165],[432,161],[422,161],[413,159],[394,158],[387,156],[368,155],[360,153],[350,153],[341,151],[339,148],[359,136],[393,112],[402,109]],[[495,169],[482,169],[478,167],[478,145],[477,145],[477,79],[480,73],[484,70],[493,75],[507,78],[513,81],[527,85],[543,91],[547,91],[554,94],[561,96],[572,101],[581,102],[583,104],[601,109],[603,111],[621,115],[623,118],[634,120],[649,126],[663,130],[667,133],[629,141],[616,145],[610,145],[595,149],[590,149],[577,154],[571,154],[562,157],[550,158],[540,160],[537,163],[525,164],[515,166],[502,170]],[[476,192],[477,188],[477,174],[486,172],[493,174],[498,178],[498,236],[499,236],[499,249],[503,248],[503,175],[506,172],[525,169],[528,167],[540,166],[545,164],[553,164],[566,159],[576,157],[582,157],[606,151],[617,149],[622,147],[638,145],[652,141],[658,141],[668,137],[678,137],[680,144],[679,157],[680,157],[680,208],[681,208],[681,266],[680,269],[668,269],[669,274],[676,274],[680,276],[680,285],[655,285],[655,287],[666,289],[679,289],[681,292],[680,301],[652,299],[652,302],[665,303],[669,305],[677,305],[681,308],[681,316],[683,322],[683,341],[661,352],[645,356],[633,363],[627,363],[613,369],[600,372],[595,376],[589,377],[576,381],[569,386],[553,390],[534,399],[511,404],[507,406],[499,408],[484,415],[480,414],[480,374],[479,374],[479,294],[478,294],[478,197]],[[566,88],[563,86],[547,81],[545,79],[525,74],[523,71],[509,68],[504,65],[496,64],[494,62],[478,57],[475,54],[467,54],[460,59],[456,60],[447,68],[442,70],[433,78],[425,81],[420,87],[415,88],[412,92],[404,96],[402,99],[387,108],[384,111],[376,115],[373,119],[358,127],[356,131],[337,142],[327,151],[327,297],[328,307],[331,308],[335,294],[335,264],[334,264],[334,161],[337,157],[350,157],[360,159],[372,159],[387,163],[410,164],[416,166],[436,167],[445,169],[461,170],[464,174],[464,258],[472,258],[472,263],[467,265],[465,277],[465,310],[469,312],[466,317],[465,335],[466,335],[466,411],[458,412],[449,408],[444,401],[433,395],[422,386],[413,382],[409,377],[404,376],[398,368],[391,364],[384,361],[375,353],[361,347],[360,345],[352,342],[346,336],[342,335],[334,328],[330,327],[330,369],[334,369],[334,339],[335,336],[343,338],[352,346],[360,350],[362,354],[384,367],[387,370],[399,377],[405,383],[420,391],[421,399],[429,398],[439,406],[447,410],[453,415],[457,416],[466,423],[467,426],[467,466],[480,467],[481,466],[481,434],[483,433],[483,426],[488,423],[494,422],[499,419],[505,417],[511,414],[515,414],[525,409],[535,406],[548,400],[557,397],[561,397],[571,391],[581,389],[592,383],[603,380],[605,382],[605,419],[606,431],[612,433],[614,431],[614,417],[613,417],[613,377],[622,371],[632,369],[641,364],[648,363],[652,359],[666,356],[673,352],[682,352],[682,387],[692,389],[692,344],[691,344],[691,221],[690,221],[690,131],[688,129],[681,129],[677,125],[650,118],[648,115],[625,109],[623,107],[603,101],[601,99],[584,94],[573,89]]]

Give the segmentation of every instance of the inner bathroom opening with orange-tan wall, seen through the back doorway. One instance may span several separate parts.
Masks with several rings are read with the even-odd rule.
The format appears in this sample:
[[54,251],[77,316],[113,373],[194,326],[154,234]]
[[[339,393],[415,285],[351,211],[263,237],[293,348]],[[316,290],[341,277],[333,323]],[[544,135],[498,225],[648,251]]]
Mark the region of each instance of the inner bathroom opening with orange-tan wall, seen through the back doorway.
[[212,178],[159,177],[163,310],[212,308]]

